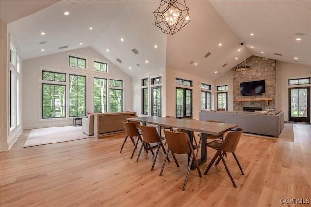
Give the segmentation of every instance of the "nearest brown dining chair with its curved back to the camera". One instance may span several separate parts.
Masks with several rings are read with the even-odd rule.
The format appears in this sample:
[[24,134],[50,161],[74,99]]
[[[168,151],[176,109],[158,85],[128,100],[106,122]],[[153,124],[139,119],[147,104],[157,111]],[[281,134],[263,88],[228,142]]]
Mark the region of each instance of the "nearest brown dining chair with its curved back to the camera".
[[173,158],[175,160],[175,163],[177,165],[177,167],[179,167],[178,161],[176,159],[176,157],[174,156],[174,154],[188,154],[190,153],[190,160],[188,162],[188,168],[187,168],[187,172],[186,172],[186,177],[185,177],[185,181],[184,181],[184,185],[182,190],[184,191],[186,188],[186,183],[187,183],[187,179],[188,179],[188,175],[189,175],[189,171],[192,165],[192,162],[194,162],[196,169],[198,170],[199,176],[202,177],[200,168],[199,168],[199,164],[198,161],[196,159],[192,144],[190,142],[189,136],[186,133],[180,133],[180,132],[172,132],[172,131],[164,131],[165,137],[166,137],[166,141],[167,141],[167,151],[165,154],[165,158],[163,161],[163,165],[162,165],[162,169],[160,172],[160,176],[162,176],[163,170],[164,170],[164,166],[165,166],[165,162],[166,159],[168,157],[169,152],[172,152]]

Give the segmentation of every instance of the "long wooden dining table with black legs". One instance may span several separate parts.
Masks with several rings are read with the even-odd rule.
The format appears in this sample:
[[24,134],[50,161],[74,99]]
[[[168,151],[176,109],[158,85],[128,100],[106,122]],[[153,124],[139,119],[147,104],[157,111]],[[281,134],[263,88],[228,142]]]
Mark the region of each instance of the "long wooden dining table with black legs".
[[[188,119],[173,119],[166,117],[158,116],[143,116],[143,117],[133,117],[127,118],[130,121],[141,122],[144,125],[152,124],[157,125],[158,132],[161,134],[161,126],[172,127],[184,129],[189,135],[190,142],[193,144],[192,132],[201,132],[202,133],[202,143],[201,143],[201,157],[198,159],[198,164],[201,165],[206,162],[207,159],[207,137],[208,135],[219,136],[224,134],[226,131],[238,127],[236,124],[227,124],[227,123],[217,123],[217,122],[206,122],[199,120],[188,120]],[[190,154],[188,155],[188,162],[190,160]],[[191,169],[195,169],[194,163],[191,165]]]

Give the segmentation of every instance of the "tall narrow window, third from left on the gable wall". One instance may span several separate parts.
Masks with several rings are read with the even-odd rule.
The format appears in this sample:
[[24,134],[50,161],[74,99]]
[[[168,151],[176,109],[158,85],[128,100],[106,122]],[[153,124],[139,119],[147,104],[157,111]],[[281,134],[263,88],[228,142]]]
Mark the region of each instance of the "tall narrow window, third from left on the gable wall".
[[94,112],[107,112],[107,79],[94,78]]

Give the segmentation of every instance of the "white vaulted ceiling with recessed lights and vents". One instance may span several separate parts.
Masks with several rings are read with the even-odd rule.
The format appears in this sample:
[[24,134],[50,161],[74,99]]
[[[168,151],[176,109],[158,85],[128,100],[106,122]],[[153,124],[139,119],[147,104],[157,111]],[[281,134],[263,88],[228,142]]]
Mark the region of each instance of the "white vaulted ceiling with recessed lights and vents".
[[[43,1],[47,8],[40,11],[33,1],[18,1],[18,6],[12,6],[13,2],[1,0],[1,21],[8,23],[8,32],[17,42],[23,60],[92,47],[131,76],[169,67],[211,80],[251,55],[311,66],[309,0],[186,1],[191,21],[173,36],[163,34],[154,25],[153,11],[159,0]],[[35,13],[25,13],[24,18],[11,22],[17,17],[10,16],[21,10]],[[68,16],[63,15],[65,11]],[[46,34],[40,35],[41,32]],[[297,41],[297,37],[302,40]],[[40,45],[41,41],[47,43]],[[155,44],[158,48],[154,48]],[[59,49],[65,45],[67,49]],[[131,51],[133,48],[139,51],[138,55]],[[207,52],[211,55],[203,57]],[[123,62],[118,63],[117,58]]]

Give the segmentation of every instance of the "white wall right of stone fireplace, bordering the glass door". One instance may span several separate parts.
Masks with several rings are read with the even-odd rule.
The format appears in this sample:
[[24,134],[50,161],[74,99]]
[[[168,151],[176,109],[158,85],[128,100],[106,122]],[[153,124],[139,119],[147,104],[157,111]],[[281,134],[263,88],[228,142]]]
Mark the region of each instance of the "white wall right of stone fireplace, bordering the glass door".
[[311,67],[276,61],[276,109],[284,111],[285,121],[288,121],[288,79],[306,77],[311,77]]

